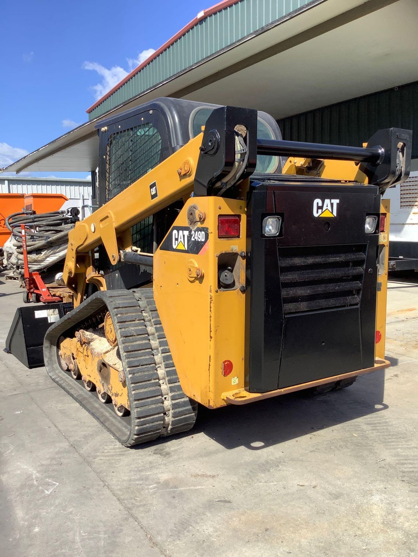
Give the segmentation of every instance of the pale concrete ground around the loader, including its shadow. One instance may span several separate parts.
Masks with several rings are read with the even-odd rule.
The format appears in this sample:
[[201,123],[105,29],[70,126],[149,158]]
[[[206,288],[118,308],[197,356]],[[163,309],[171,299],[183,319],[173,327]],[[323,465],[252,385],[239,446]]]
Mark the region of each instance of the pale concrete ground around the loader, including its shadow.
[[[0,276],[2,348],[21,292]],[[0,555],[416,555],[418,277],[387,323],[391,368],[137,449],[1,351]]]

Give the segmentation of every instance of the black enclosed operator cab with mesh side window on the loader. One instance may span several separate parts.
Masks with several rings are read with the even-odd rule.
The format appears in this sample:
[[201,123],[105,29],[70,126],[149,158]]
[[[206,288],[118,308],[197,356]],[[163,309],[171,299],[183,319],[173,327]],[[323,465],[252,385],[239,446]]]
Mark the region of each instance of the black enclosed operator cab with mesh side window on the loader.
[[[177,99],[156,99],[145,105],[116,114],[96,125],[99,133],[98,202],[103,206],[133,184],[149,170],[202,133],[208,116],[218,105]],[[257,113],[257,137],[281,140],[278,124],[269,114]],[[284,159],[275,155],[258,155],[255,172],[281,173]],[[158,190],[158,187],[157,187]],[[157,195],[154,192],[154,195]],[[153,253],[178,216],[184,199],[164,207],[132,227],[132,245]],[[108,288],[132,288],[147,284],[152,273],[143,265],[138,268],[120,262],[112,265],[103,250],[100,268],[105,272]]]

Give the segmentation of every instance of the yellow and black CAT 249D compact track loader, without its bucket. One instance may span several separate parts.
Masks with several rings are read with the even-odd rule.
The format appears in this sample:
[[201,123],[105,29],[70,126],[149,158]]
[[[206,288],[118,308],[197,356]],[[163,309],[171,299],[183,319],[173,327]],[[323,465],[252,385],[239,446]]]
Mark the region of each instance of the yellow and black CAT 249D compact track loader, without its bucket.
[[[204,126],[204,131],[202,129]],[[158,99],[104,119],[99,205],[69,234],[48,374],[125,446],[197,403],[346,387],[384,359],[388,207],[411,131],[283,141],[256,110]]]

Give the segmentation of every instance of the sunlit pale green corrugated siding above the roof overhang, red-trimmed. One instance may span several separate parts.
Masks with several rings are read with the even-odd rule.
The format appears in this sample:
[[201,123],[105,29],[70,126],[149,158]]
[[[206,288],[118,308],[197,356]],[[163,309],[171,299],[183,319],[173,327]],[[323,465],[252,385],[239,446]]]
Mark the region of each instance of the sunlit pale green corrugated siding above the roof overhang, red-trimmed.
[[241,0],[202,19],[89,114],[96,118],[250,33],[317,0]]

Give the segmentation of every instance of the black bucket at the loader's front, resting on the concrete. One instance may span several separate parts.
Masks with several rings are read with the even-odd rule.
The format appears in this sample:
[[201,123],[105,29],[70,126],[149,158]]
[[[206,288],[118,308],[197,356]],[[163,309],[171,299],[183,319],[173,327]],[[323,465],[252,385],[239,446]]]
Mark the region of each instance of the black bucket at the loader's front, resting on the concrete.
[[6,339],[7,354],[27,368],[43,365],[43,338],[52,323],[72,310],[72,304],[36,304],[18,307]]

